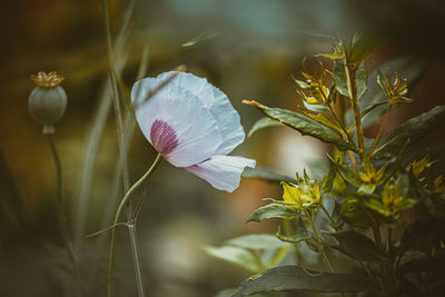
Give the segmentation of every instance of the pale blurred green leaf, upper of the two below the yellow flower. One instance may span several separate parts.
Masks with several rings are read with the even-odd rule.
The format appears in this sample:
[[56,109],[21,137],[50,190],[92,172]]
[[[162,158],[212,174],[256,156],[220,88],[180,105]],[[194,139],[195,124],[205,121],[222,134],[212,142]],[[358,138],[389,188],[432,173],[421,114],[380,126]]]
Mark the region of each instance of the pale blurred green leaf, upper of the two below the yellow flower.
[[277,249],[289,246],[280,241],[276,236],[269,234],[250,234],[231,238],[226,241],[226,245],[247,249]]

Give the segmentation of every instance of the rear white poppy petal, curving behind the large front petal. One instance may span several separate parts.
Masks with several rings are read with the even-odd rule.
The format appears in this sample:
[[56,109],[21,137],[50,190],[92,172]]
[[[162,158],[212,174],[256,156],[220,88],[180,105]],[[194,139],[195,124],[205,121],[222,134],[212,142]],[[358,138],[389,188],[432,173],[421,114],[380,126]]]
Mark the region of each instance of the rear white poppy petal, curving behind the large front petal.
[[154,87],[159,86],[158,83],[174,76],[175,78],[170,83],[192,92],[210,109],[211,115],[215,117],[222,137],[222,143],[217,148],[215,154],[227,155],[238,147],[244,141],[246,135],[239,113],[233,107],[229,98],[220,89],[208,82],[207,79],[187,72],[164,72],[150,83]]

